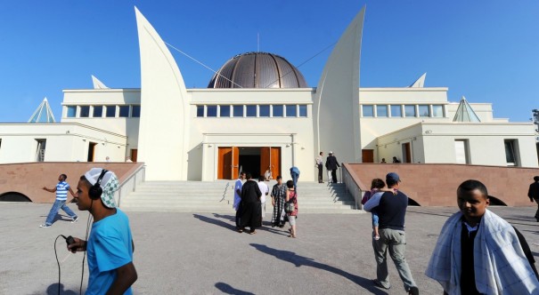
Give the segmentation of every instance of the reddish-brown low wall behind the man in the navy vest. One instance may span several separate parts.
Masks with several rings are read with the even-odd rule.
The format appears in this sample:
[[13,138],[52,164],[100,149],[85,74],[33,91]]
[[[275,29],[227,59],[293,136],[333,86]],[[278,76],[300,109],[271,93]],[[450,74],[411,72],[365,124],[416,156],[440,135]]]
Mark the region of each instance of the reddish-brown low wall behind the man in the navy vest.
[[[385,180],[388,172],[396,172],[401,180],[400,190],[421,206],[456,206],[456,190],[462,181],[477,179],[492,195],[508,206],[530,206],[527,189],[539,175],[537,168],[481,166],[436,163],[346,163],[349,176],[348,191],[363,192],[371,180]],[[357,186],[355,187],[355,184]],[[354,195],[354,194],[353,194]],[[358,196],[359,196],[358,195]],[[358,197],[357,196],[357,197]]]

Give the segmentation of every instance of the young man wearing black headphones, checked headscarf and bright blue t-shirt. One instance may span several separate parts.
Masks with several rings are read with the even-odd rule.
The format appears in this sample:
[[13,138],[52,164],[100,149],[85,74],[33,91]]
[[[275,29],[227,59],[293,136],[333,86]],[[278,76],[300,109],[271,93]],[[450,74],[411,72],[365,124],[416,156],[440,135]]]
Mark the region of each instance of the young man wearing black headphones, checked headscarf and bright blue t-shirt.
[[86,294],[133,293],[131,285],[137,279],[135,245],[127,215],[116,208],[114,192],[118,187],[116,175],[101,168],[87,171],[78,181],[78,210],[89,211],[94,222],[88,240],[74,238],[68,250],[86,251],[88,255]]

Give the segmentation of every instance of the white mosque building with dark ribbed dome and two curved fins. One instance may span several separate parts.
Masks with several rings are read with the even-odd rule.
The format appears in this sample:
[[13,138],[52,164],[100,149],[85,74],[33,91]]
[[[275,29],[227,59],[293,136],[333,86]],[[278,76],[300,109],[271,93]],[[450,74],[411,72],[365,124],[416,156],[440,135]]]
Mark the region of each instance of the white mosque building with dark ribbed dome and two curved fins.
[[[188,89],[167,45],[135,8],[141,88],[64,90],[61,123],[0,124],[0,163],[145,163],[147,180],[288,175],[314,181],[314,157],[342,163],[538,167],[535,127],[493,116],[490,103],[450,102],[446,87],[360,88],[364,9],[333,48],[316,87],[288,60],[246,52],[208,88]],[[40,108],[48,108],[42,105]],[[46,111],[46,110],[45,110]],[[37,113],[41,113],[39,108]],[[46,113],[46,112],[45,112]]]

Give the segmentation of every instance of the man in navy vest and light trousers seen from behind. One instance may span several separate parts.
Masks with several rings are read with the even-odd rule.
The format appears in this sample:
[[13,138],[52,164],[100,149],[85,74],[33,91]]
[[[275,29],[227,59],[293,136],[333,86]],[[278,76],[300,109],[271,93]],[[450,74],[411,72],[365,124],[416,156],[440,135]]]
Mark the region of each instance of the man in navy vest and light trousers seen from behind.
[[[397,190],[400,187],[401,179],[394,173],[386,175],[388,188]],[[419,294],[417,285],[413,281],[410,267],[404,258],[406,250],[406,237],[404,234],[404,216],[408,206],[408,196],[400,191],[396,195],[392,192],[380,192],[372,196],[365,203],[363,209],[371,211],[376,207],[379,217],[379,240],[372,240],[374,258],[376,259],[376,279],[372,283],[383,289],[391,287],[388,275],[387,253],[395,262],[396,270],[403,280],[404,289],[410,294]]]

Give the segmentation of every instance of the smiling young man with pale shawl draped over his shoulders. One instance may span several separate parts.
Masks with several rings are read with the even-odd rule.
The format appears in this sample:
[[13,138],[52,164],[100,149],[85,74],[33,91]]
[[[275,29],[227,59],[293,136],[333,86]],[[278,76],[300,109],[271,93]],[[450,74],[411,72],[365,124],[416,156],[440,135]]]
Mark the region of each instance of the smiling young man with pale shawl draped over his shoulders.
[[538,294],[535,260],[526,239],[486,209],[488,192],[478,180],[457,189],[461,211],[447,221],[425,275],[446,294]]

